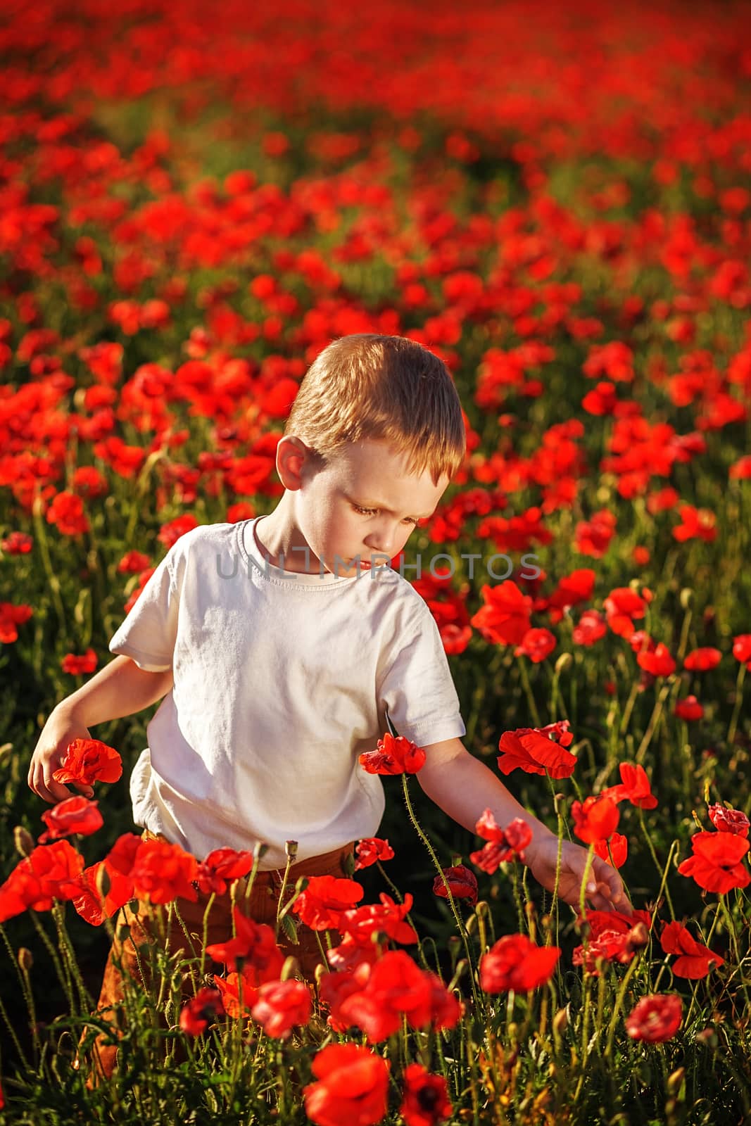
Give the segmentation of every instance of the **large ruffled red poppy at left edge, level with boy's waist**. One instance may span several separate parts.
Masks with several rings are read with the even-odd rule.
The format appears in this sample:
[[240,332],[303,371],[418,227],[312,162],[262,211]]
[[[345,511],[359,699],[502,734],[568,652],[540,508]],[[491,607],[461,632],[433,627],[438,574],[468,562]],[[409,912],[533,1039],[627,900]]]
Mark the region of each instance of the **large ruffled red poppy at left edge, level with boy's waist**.
[[50,911],[54,900],[70,900],[83,857],[68,841],[39,844],[12,869],[0,887],[0,922],[30,908]]

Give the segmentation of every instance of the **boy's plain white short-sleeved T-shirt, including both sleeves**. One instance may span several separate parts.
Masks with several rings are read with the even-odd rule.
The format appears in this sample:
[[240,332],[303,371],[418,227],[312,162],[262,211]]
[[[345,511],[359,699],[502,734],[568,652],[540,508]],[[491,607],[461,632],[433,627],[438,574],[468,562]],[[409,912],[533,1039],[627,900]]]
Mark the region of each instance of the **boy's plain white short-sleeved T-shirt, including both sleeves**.
[[136,824],[199,858],[263,841],[268,869],[287,840],[303,860],[377,832],[383,786],[358,756],[386,708],[418,745],[466,729],[433,617],[397,571],[283,571],[254,524],[181,536],[109,649],[175,677],[131,778]]

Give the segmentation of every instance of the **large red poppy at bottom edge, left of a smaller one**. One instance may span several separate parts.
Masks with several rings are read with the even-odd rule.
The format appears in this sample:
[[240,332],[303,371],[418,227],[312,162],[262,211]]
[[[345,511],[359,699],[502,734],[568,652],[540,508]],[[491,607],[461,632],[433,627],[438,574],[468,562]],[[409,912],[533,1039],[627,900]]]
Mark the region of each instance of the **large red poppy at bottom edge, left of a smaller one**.
[[329,1044],[312,1063],[318,1082],[303,1089],[318,1126],[375,1126],[388,1109],[388,1061],[359,1044]]

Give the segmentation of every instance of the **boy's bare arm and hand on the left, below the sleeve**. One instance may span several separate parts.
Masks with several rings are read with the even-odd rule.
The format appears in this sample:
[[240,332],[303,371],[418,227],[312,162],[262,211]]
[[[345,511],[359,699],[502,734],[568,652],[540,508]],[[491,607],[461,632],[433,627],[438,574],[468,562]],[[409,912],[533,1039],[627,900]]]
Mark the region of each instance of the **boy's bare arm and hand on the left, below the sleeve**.
[[[107,720],[142,712],[166,696],[172,687],[172,670],[145,672],[129,656],[116,656],[78,691],[66,696],[52,712],[36,744],[28,771],[28,784],[45,802],[62,802],[72,793],[52,775],[74,739],[91,739],[89,727]],[[75,785],[72,783],[71,785]],[[90,786],[75,788],[91,797]]]

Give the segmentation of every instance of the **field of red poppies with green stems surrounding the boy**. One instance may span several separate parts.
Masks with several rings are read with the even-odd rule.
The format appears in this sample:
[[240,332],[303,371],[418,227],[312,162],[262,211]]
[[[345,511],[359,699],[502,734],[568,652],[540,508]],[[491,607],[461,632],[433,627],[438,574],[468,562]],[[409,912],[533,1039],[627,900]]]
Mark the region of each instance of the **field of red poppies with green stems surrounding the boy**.
[[[0,1121],[751,1121],[750,16],[5,6]],[[384,732],[349,878],[143,947],[154,989],[92,1016],[122,908],[240,903],[262,849],[134,832],[153,709],[70,745],[91,799],[29,789],[39,732],[181,535],[272,510],[296,388],[358,332],[462,399],[464,465],[392,565],[464,743],[632,911],[538,886],[522,822],[448,822]]]

